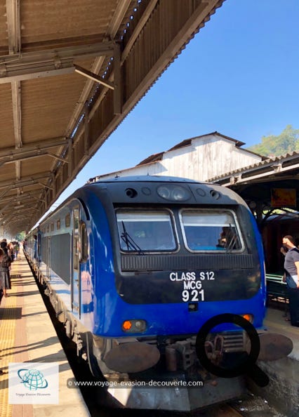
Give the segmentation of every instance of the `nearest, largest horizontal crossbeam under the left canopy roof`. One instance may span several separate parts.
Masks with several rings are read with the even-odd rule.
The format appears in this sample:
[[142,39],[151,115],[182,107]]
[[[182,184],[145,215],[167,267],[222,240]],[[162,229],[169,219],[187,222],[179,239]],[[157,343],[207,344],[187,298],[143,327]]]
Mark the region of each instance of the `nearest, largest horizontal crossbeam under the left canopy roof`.
[[0,84],[74,72],[74,60],[113,55],[114,42],[0,56]]

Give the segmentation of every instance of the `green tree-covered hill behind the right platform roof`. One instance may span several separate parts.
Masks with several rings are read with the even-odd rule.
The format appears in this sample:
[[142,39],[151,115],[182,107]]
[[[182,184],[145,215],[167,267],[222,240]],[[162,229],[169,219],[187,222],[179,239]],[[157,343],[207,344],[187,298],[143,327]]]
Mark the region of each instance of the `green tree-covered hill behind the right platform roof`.
[[299,129],[288,124],[280,135],[263,136],[262,142],[247,148],[263,157],[280,157],[299,152]]

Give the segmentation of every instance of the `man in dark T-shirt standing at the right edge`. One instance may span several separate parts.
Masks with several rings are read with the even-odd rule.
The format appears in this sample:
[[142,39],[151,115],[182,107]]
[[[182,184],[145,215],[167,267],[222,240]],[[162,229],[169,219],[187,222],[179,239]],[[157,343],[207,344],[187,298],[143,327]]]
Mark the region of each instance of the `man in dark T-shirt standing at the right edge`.
[[288,249],[284,258],[283,280],[288,287],[291,325],[299,327],[299,249],[290,234],[282,239],[282,244]]

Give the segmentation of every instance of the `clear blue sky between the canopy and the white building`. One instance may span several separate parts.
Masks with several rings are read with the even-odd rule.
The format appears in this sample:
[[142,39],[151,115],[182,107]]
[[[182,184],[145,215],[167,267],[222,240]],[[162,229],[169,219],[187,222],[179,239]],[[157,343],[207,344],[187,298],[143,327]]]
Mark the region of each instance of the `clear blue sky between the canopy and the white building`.
[[55,203],[88,178],[218,131],[246,143],[299,128],[299,0],[226,0]]

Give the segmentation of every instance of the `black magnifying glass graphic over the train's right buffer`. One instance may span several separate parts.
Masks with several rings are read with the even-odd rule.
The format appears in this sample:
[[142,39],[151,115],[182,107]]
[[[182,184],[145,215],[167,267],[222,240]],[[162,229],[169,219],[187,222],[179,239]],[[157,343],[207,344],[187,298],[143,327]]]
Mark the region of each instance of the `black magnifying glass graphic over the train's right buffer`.
[[[237,324],[246,331],[251,341],[251,350],[248,354],[245,352],[244,361],[237,366],[232,366],[230,369],[225,369],[221,366],[212,364],[211,360],[208,359],[206,355],[206,336],[208,336],[211,329],[223,323]],[[236,376],[246,374],[260,387],[265,387],[269,383],[269,378],[266,373],[255,364],[260,353],[260,338],[258,337],[258,333],[254,326],[248,322],[248,320],[244,319],[244,317],[231,313],[225,313],[208,319],[208,321],[201,326],[201,329],[197,333],[195,348],[201,365],[215,376],[220,376],[222,378],[234,378]]]

